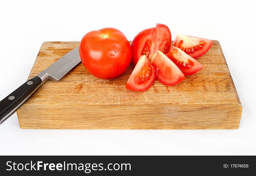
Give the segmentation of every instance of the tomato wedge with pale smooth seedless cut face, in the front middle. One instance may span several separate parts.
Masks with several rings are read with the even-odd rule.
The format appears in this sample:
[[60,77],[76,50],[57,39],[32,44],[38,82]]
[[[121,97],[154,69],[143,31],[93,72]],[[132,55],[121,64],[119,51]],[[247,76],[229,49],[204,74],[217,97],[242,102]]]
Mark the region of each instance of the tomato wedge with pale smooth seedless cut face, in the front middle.
[[152,65],[156,69],[156,78],[161,83],[173,86],[185,79],[184,74],[164,53],[157,51]]

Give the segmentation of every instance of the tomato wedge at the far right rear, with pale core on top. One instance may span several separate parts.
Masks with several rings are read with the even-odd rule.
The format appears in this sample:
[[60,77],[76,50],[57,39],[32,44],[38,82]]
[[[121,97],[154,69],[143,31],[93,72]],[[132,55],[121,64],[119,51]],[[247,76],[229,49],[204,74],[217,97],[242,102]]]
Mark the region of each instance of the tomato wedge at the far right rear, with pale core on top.
[[198,37],[178,34],[173,42],[173,46],[180,48],[182,51],[194,59],[201,57],[209,51],[213,41]]

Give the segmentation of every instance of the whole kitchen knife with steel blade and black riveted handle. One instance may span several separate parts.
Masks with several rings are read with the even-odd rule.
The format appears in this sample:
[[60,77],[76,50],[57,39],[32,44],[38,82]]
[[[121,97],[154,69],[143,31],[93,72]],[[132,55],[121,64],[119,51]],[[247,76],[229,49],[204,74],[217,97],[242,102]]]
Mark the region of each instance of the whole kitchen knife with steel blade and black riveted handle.
[[78,47],[74,48],[50,67],[29,79],[0,102],[0,125],[13,115],[47,80],[59,81],[81,62]]

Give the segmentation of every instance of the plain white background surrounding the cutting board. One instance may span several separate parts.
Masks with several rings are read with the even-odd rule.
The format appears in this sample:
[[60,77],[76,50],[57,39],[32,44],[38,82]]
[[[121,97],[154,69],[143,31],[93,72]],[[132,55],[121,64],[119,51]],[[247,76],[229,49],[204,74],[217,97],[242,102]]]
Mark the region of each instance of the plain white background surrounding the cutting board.
[[114,27],[129,40],[156,23],[218,40],[243,113],[237,130],[29,130],[15,113],[0,126],[0,155],[255,155],[253,1],[4,1],[0,6],[0,99],[23,84],[44,41],[80,41]]

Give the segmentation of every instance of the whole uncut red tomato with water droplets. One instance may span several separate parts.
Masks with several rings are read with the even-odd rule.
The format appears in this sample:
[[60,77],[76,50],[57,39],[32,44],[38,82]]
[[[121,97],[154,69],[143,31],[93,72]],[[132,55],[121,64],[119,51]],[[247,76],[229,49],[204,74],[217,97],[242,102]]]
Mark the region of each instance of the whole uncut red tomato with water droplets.
[[103,28],[85,34],[79,45],[79,54],[88,72],[101,79],[121,75],[131,62],[130,43],[115,28]]

